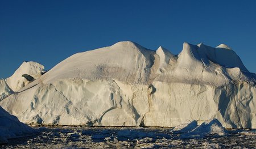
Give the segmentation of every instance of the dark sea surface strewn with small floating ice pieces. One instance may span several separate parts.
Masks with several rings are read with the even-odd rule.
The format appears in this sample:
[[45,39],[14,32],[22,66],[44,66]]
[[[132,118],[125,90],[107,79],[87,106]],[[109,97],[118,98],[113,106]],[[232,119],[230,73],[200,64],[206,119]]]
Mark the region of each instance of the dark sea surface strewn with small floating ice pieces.
[[[256,148],[256,130],[182,139],[160,127],[45,127],[42,133],[9,140],[0,148]],[[184,135],[184,134],[183,134]]]

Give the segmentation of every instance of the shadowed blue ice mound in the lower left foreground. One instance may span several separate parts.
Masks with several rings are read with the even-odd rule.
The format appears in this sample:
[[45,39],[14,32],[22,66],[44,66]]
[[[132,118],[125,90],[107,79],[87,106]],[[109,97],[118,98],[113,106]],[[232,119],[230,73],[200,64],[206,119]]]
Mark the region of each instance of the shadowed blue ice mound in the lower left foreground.
[[14,139],[38,133],[37,130],[19,122],[18,118],[11,116],[0,107],[0,144],[8,143],[7,139]]

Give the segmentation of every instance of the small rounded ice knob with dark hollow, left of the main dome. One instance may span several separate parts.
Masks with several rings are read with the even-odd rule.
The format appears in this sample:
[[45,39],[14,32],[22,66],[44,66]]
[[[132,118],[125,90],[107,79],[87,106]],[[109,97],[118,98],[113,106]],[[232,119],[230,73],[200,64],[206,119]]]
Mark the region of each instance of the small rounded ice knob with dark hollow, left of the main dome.
[[5,82],[11,90],[16,92],[30,82],[22,75],[27,74],[32,76],[34,79],[37,79],[42,75],[42,72],[44,72],[43,65],[37,62],[23,62],[12,76],[5,79]]

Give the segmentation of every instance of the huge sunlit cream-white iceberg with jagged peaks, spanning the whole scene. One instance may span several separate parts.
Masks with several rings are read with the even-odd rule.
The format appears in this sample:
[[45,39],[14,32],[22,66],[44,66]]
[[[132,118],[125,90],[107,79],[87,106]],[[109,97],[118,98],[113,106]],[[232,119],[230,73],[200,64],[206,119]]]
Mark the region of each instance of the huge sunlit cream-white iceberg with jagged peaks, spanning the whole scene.
[[0,106],[26,124],[175,127],[216,119],[256,129],[256,74],[224,44],[184,42],[175,55],[122,41],[47,72],[22,63],[0,80]]

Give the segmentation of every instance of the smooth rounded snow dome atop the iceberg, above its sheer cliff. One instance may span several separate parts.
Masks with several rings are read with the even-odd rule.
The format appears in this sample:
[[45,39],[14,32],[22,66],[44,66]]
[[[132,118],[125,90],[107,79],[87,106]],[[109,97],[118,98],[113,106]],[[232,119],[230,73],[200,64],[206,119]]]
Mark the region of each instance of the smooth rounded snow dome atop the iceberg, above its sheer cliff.
[[154,51],[133,42],[118,42],[109,47],[74,54],[49,70],[41,80],[53,83],[56,79],[72,76],[93,81],[118,78],[122,82],[145,84],[152,65],[151,53]]

